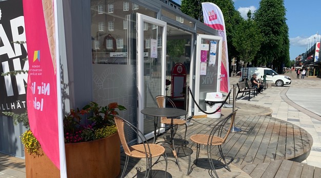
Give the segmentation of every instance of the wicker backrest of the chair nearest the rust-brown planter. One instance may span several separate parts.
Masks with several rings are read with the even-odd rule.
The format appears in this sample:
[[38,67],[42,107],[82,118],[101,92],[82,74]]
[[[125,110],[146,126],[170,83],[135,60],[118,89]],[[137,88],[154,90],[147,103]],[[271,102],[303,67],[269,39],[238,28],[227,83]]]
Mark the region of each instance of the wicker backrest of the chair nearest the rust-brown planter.
[[124,118],[122,118],[122,117],[114,116],[114,119],[115,119],[116,127],[117,127],[117,130],[118,130],[119,139],[121,140],[123,149],[124,149],[124,151],[125,151],[125,153],[127,155],[132,155],[132,153],[131,153],[131,151],[129,149],[129,146],[127,144],[128,140],[126,139],[127,137],[126,137],[125,130],[127,132],[129,130],[128,130],[128,128],[126,126],[128,126],[130,130],[133,130],[137,134],[137,137],[139,137],[142,140],[142,142],[144,144],[144,147],[145,147],[146,153],[150,153],[150,148],[149,148],[149,145],[147,143],[147,139],[144,136],[144,133],[142,131],[138,130],[137,127],[133,126],[131,123],[129,123],[128,121],[124,120]]

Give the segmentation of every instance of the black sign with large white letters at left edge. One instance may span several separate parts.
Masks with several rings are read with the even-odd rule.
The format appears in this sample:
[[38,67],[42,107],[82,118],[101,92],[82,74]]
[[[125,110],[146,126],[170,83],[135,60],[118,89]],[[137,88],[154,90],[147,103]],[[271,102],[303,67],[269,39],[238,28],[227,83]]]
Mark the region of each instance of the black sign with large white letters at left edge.
[[[0,1],[0,73],[28,70],[22,0]],[[0,114],[2,112],[24,113],[27,109],[26,87],[28,74],[0,75]]]

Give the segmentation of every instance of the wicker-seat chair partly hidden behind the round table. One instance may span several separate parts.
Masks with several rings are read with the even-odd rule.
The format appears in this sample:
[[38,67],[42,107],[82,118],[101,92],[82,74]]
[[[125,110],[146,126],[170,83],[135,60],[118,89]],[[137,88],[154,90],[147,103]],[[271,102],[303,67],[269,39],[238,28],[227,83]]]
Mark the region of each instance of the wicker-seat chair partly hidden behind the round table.
[[[164,108],[166,103],[168,102],[170,104],[171,107],[176,108],[174,102],[167,96],[163,96],[163,95],[157,95],[155,97],[156,102],[157,102],[157,106],[159,108]],[[161,117],[160,118],[160,123],[165,124],[165,125],[171,125],[171,118],[167,118],[167,117]],[[186,118],[185,120],[181,120],[179,118],[173,118],[173,127],[174,127],[174,133],[173,135],[176,134],[177,128],[179,125],[185,125],[185,135],[184,135],[184,140],[186,140],[186,131],[187,131],[187,121]],[[157,139],[157,138],[156,138]]]

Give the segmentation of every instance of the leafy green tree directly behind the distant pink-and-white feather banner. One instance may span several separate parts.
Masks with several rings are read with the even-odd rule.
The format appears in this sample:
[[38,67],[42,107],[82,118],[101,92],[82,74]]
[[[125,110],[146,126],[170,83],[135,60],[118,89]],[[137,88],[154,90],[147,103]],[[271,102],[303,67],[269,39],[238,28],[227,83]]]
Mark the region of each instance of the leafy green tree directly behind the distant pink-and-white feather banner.
[[220,8],[220,10],[222,10],[226,28],[228,58],[229,64],[231,64],[232,57],[238,55],[238,52],[232,45],[232,39],[235,36],[235,26],[242,22],[242,17],[239,12],[235,10],[234,2],[231,0],[182,0],[180,10],[185,14],[198,19],[200,22],[204,22],[202,11],[202,3],[204,2],[214,3]]

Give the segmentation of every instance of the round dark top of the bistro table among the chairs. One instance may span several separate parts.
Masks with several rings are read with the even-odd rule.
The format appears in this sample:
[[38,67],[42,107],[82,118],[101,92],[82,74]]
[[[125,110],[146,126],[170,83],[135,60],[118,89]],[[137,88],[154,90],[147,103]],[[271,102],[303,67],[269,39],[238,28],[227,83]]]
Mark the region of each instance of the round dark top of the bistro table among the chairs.
[[186,110],[177,108],[145,108],[141,112],[145,115],[157,117],[177,117],[187,114]]

